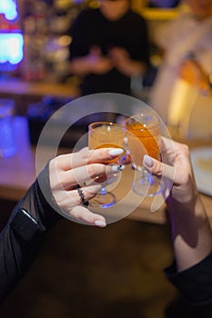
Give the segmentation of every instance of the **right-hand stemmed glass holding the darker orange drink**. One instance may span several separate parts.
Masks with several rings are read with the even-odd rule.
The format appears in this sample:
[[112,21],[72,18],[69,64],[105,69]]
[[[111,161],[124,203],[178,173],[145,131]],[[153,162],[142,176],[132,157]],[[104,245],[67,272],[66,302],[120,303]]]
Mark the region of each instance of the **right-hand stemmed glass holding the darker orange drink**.
[[153,196],[163,191],[162,181],[149,174],[144,166],[145,154],[160,160],[158,142],[160,139],[160,121],[155,114],[136,114],[126,118],[126,135],[132,168],[136,170],[136,178],[132,188],[136,194]]

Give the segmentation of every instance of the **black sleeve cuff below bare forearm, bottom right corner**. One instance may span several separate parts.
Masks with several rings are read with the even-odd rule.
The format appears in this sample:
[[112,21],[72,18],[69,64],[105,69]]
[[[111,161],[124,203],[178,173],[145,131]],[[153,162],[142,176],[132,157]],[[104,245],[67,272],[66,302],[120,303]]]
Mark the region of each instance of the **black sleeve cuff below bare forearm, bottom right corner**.
[[165,273],[197,316],[212,317],[212,253],[183,272],[177,273],[174,263]]

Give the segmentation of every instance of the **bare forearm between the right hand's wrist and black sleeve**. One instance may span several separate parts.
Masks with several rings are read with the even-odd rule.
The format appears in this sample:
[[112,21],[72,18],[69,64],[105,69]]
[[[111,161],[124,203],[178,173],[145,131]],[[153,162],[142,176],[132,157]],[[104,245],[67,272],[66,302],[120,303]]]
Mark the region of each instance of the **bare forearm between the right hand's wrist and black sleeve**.
[[194,203],[170,202],[173,248],[177,271],[181,272],[202,261],[212,251],[212,234],[200,197]]

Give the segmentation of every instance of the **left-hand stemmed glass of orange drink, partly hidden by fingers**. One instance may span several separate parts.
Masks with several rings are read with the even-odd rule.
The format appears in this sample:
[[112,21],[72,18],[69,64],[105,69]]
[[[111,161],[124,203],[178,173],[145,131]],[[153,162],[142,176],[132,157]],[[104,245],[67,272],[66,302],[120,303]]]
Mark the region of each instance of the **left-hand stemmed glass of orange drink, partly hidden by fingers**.
[[[95,122],[88,126],[89,149],[122,148],[124,149],[125,128],[110,122]],[[108,164],[121,164],[121,158],[108,160]],[[116,181],[116,174],[102,184],[101,191],[89,201],[91,206],[109,207],[116,204],[116,196],[107,192],[106,186]]]

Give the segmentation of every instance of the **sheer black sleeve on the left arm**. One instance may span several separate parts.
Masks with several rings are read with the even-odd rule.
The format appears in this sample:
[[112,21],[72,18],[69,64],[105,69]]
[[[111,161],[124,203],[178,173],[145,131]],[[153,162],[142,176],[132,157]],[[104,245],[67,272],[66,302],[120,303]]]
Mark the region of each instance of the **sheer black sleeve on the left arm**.
[[[39,182],[50,197],[48,165],[39,175]],[[36,180],[15,206],[0,234],[0,301],[25,274],[42,247],[48,230],[59,218],[61,216],[45,201]]]

